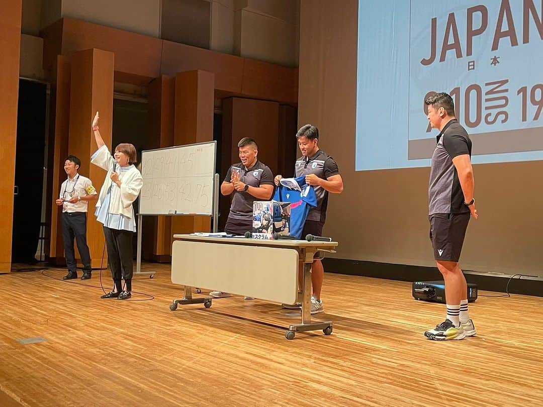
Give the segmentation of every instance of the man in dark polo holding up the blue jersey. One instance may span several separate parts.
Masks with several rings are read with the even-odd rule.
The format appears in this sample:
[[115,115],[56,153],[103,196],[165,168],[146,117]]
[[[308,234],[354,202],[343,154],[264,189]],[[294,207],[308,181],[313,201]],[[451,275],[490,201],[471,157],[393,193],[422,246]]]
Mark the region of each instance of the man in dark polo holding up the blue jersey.
[[[305,175],[308,185],[312,185],[317,195],[317,206],[310,209],[307,214],[302,237],[307,234],[323,236],[323,226],[326,220],[326,209],[328,207],[328,194],[339,194],[343,191],[343,179],[339,175],[336,161],[326,152],[319,149],[319,129],[311,124],[302,126],[298,133],[298,147],[302,156],[294,164],[295,176]],[[275,185],[279,185],[282,176],[275,177]],[[301,275],[302,270],[300,270]],[[323,302],[320,299],[320,292],[323,288],[324,268],[320,258],[315,257],[311,265],[311,282],[313,295],[311,297],[311,313],[317,314],[324,311]],[[300,303],[283,304],[284,308],[301,308]]]

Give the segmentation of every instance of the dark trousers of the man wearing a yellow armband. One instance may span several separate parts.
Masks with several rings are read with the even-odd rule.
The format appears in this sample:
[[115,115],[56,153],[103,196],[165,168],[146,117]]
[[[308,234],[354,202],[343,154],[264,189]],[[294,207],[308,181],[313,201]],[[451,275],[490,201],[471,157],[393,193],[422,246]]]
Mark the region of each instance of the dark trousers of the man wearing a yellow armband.
[[91,271],[91,255],[87,246],[87,214],[86,212],[62,212],[62,241],[64,243],[64,257],[68,271],[77,272],[75,263],[75,250],[73,239],[77,243],[77,250],[81,255],[83,272]]

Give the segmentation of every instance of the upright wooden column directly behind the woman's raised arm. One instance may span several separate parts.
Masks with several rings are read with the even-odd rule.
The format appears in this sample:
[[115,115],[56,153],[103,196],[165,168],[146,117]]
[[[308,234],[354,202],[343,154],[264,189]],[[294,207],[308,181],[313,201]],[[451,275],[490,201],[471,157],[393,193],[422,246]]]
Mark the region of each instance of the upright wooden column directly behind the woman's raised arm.
[[[94,113],[100,112],[100,134],[111,151],[113,120],[113,68],[114,54],[100,49],[87,49],[72,57],[70,92],[70,137],[68,153],[81,160],[80,173],[89,177],[97,190],[104,182],[106,172],[91,165],[91,154],[96,151],[96,141],[91,129]],[[92,267],[107,265],[102,224],[94,217],[94,205],[89,204],[87,243],[91,252]]]

